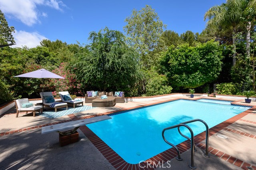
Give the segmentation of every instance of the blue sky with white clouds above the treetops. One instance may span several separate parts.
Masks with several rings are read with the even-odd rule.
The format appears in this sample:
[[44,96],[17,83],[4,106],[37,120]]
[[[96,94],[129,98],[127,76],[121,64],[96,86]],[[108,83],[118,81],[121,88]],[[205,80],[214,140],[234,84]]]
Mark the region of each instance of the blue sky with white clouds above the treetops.
[[167,30],[182,34],[202,32],[204,13],[225,0],[0,0],[9,26],[14,26],[16,47],[40,45],[42,39],[88,42],[91,31],[107,26],[123,32],[124,19],[133,9],[152,6]]

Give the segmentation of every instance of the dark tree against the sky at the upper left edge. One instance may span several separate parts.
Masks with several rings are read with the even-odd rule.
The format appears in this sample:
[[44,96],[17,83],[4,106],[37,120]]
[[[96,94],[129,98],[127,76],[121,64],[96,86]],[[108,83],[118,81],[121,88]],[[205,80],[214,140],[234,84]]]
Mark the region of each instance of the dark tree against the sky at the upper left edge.
[[8,26],[8,22],[4,17],[4,13],[0,10],[0,44],[14,44],[14,38],[12,36],[12,32],[14,32],[14,27]]

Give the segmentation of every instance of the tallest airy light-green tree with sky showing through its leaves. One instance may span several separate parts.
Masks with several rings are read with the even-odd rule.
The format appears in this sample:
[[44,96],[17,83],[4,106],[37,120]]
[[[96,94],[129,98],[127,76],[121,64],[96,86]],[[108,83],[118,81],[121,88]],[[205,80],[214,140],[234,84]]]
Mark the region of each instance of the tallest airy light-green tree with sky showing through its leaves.
[[156,58],[149,56],[148,53],[155,49],[166,25],[159,19],[155,10],[148,5],[139,11],[132,10],[131,16],[124,21],[127,22],[124,32],[128,35],[128,42],[140,53],[142,64],[150,68]]

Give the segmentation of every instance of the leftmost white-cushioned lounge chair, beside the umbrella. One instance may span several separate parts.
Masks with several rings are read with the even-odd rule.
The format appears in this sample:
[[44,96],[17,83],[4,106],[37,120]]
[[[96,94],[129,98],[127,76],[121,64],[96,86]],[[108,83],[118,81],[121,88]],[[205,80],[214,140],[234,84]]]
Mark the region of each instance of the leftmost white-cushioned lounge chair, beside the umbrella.
[[[26,114],[28,114],[28,112],[33,112],[33,117],[35,117],[36,111],[41,111],[41,113],[43,111],[42,106],[34,106],[33,103],[28,104],[29,103],[28,98],[17,99],[17,100],[14,100],[14,102],[16,105],[16,117],[18,117],[19,112],[26,112]],[[25,107],[22,107],[22,105],[23,106],[25,105]]]

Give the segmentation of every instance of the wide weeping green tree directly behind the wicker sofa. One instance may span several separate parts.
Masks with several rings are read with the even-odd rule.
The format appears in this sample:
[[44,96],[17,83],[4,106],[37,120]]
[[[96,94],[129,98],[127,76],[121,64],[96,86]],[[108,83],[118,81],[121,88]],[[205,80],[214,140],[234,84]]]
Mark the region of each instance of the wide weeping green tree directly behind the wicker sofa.
[[129,90],[139,70],[139,56],[126,45],[125,36],[105,28],[91,32],[88,40],[92,42],[90,46],[76,54],[76,78],[88,90]]

